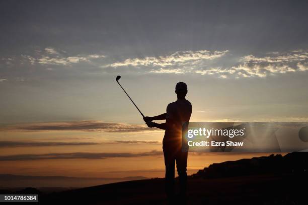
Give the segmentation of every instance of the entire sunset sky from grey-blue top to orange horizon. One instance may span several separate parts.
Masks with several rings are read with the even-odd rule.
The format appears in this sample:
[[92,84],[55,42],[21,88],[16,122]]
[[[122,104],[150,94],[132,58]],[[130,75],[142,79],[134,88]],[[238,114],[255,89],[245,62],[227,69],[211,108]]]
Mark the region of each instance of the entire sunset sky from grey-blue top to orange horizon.
[[[1,1],[2,173],[162,177],[147,116],[307,121],[306,1]],[[189,173],[264,153],[190,153]],[[151,164],[148,163],[151,161]]]

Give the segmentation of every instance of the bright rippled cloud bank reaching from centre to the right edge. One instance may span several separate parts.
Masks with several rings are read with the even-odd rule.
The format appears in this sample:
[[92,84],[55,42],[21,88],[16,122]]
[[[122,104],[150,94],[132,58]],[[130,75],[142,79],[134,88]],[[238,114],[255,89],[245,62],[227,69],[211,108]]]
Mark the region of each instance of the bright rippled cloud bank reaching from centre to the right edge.
[[[303,50],[294,50],[287,53],[270,52],[265,56],[246,55],[238,58],[236,65],[213,67],[210,61],[219,59],[228,53],[225,51],[183,51],[169,56],[144,57],[126,59],[115,62],[109,67],[142,67],[144,72],[155,74],[201,74],[221,79],[233,78],[264,78],[269,75],[285,74],[308,70],[308,53]],[[218,62],[216,62],[219,64]],[[222,63],[220,63],[222,64]]]

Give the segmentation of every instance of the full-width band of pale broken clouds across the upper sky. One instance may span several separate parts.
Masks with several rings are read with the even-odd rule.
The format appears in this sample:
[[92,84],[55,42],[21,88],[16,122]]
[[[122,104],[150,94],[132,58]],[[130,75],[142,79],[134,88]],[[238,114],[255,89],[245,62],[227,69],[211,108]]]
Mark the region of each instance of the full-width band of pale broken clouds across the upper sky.
[[[230,55],[227,55],[230,53]],[[263,55],[244,55],[233,57],[232,52],[222,51],[177,51],[166,56],[146,56],[143,58],[124,58],[114,61],[107,58],[105,65],[96,64],[96,60],[106,58],[104,55],[68,55],[64,51],[57,51],[48,47],[36,52],[36,56],[21,55],[17,57],[2,58],[8,65],[28,62],[31,65],[41,65],[47,69],[49,66],[71,66],[73,64],[87,63],[108,72],[119,68],[127,68],[129,72],[151,74],[200,74],[215,78],[265,78],[272,75],[304,72],[308,70],[308,52],[306,50],[293,50],[289,52],[267,52]],[[236,63],[235,63],[236,62]],[[102,62],[100,62],[102,63]],[[110,69],[112,68],[112,69]],[[137,70],[134,70],[136,68]],[[3,81],[0,81],[3,82]]]

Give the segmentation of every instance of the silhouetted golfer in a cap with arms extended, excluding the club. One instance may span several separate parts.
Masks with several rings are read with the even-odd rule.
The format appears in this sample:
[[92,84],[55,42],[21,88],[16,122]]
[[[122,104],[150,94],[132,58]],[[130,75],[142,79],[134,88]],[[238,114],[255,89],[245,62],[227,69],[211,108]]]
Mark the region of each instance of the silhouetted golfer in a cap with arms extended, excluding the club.
[[[187,85],[179,82],[176,85],[175,93],[178,100],[167,106],[167,112],[155,117],[144,117],[148,127],[157,127],[164,129],[163,150],[166,166],[166,193],[169,199],[174,196],[174,169],[177,162],[177,171],[180,180],[180,194],[185,197],[187,186],[187,152],[182,152],[182,125],[189,122],[192,106],[185,99],[187,94]],[[152,120],[164,120],[166,123],[158,124]],[[188,123],[187,123],[188,125]],[[188,149],[186,149],[188,150]]]

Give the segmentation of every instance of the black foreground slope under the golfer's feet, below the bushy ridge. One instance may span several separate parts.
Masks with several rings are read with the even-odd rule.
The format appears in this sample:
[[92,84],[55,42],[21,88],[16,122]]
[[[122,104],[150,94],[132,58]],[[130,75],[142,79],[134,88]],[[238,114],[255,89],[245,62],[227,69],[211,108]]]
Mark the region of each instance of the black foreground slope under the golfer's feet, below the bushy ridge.
[[[308,204],[306,182],[306,176],[294,175],[189,179],[186,204]],[[49,204],[168,204],[164,191],[164,179],[147,179],[47,194],[40,201]],[[178,202],[185,204],[183,199]]]

